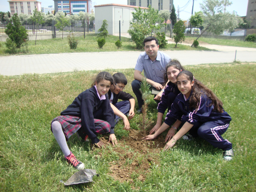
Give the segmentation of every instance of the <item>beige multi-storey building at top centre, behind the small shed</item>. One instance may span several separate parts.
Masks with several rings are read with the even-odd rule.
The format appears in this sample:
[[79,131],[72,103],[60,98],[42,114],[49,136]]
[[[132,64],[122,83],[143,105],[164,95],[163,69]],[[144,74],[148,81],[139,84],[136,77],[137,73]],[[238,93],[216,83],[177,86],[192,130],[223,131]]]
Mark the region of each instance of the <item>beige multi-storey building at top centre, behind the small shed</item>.
[[127,0],[127,5],[138,6],[138,7],[148,7],[160,11],[168,10],[171,12],[173,0]]

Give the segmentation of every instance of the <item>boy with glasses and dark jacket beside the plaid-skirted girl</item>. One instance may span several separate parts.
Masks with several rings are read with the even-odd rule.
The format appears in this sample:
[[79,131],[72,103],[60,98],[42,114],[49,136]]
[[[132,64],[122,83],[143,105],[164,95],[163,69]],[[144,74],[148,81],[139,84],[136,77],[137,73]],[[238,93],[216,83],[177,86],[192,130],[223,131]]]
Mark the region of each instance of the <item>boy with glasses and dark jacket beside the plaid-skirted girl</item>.
[[[113,78],[114,85],[111,85],[108,91],[110,106],[115,114],[115,123],[122,118],[124,122],[124,129],[128,130],[130,129],[128,119],[132,119],[134,117],[135,99],[129,93],[123,92],[125,89],[124,87],[127,85],[127,79],[124,74],[116,73],[113,75]],[[118,102],[118,99],[123,101]],[[126,117],[127,114],[128,118]]]

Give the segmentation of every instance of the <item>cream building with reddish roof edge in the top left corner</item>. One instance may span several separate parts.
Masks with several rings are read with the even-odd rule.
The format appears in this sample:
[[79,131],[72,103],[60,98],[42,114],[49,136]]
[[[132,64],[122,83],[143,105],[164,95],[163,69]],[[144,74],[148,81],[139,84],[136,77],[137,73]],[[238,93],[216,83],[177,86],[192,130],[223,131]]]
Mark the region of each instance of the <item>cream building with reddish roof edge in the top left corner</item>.
[[37,0],[10,0],[10,13],[29,14],[32,15],[34,10],[41,11],[41,2]]

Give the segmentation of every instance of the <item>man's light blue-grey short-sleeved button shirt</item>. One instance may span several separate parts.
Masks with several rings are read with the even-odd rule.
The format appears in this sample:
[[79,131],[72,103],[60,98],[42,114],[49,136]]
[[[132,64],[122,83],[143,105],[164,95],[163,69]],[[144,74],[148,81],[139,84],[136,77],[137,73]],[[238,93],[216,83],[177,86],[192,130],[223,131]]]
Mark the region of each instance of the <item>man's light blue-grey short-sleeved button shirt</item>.
[[143,71],[144,76],[154,82],[162,84],[164,82],[164,72],[166,65],[170,62],[170,57],[158,51],[156,60],[150,60],[146,52],[140,54],[135,70]]

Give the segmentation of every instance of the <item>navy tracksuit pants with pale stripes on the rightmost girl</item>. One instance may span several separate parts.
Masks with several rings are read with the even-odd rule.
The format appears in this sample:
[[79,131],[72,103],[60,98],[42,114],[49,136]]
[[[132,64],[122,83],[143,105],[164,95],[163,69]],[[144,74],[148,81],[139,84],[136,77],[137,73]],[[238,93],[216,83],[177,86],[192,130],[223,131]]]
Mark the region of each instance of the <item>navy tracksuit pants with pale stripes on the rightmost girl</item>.
[[[182,124],[187,121],[186,116],[182,117]],[[194,126],[189,130],[190,135],[200,138],[209,142],[215,148],[220,148],[224,151],[232,149],[232,143],[228,140],[222,138],[222,134],[226,132],[229,124],[222,122],[221,120],[208,121],[204,123],[197,122]]]

